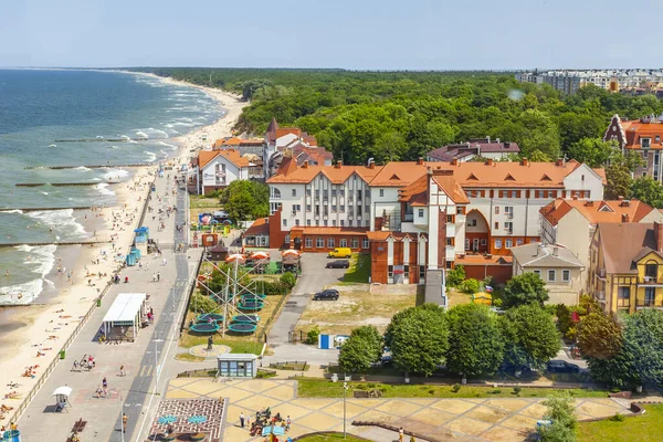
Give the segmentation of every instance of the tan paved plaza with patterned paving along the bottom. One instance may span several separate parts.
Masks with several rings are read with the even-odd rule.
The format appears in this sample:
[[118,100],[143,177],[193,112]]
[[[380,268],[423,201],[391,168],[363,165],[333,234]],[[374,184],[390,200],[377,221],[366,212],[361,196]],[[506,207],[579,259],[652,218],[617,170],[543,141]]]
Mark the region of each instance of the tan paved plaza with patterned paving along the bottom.
[[[339,383],[339,389],[341,385]],[[240,413],[254,415],[270,407],[293,420],[288,435],[314,431],[343,431],[343,399],[297,398],[294,380],[248,379],[218,382],[180,378],[168,385],[166,399],[228,400],[223,441],[256,441],[239,427]],[[348,398],[348,431],[371,439],[371,428],[351,427],[357,421],[381,421],[422,435],[455,441],[523,441],[541,419],[543,399],[354,399]],[[578,419],[630,414],[629,402],[620,399],[577,399]]]

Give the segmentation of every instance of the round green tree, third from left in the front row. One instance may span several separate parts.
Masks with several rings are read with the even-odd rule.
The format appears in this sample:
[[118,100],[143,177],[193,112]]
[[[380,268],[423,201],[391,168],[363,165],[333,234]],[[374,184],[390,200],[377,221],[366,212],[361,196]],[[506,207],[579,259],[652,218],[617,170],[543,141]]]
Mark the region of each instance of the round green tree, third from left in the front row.
[[482,304],[462,304],[449,311],[446,367],[463,377],[494,373],[504,360],[504,340],[497,318]]

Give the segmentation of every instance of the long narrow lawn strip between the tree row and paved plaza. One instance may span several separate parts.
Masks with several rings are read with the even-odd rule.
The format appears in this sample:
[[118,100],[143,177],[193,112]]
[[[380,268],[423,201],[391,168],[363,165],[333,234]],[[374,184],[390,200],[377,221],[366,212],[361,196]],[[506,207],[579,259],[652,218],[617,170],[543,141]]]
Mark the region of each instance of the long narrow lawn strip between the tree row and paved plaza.
[[[299,398],[341,398],[343,382],[328,379],[297,379]],[[361,386],[358,388],[358,386]],[[456,392],[452,386],[433,385],[390,385],[380,382],[350,382],[351,390],[380,390],[383,398],[546,398],[552,393],[568,392],[578,398],[607,398],[607,390],[559,389],[559,388],[523,388],[516,396],[513,388],[463,386]]]

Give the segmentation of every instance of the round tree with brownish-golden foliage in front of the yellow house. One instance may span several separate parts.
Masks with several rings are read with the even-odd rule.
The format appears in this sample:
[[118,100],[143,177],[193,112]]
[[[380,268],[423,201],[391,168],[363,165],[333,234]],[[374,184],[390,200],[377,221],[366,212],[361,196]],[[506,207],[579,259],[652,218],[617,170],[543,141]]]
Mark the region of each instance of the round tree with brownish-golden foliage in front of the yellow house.
[[597,359],[614,357],[622,347],[622,329],[613,316],[596,311],[578,325],[578,347],[583,355]]

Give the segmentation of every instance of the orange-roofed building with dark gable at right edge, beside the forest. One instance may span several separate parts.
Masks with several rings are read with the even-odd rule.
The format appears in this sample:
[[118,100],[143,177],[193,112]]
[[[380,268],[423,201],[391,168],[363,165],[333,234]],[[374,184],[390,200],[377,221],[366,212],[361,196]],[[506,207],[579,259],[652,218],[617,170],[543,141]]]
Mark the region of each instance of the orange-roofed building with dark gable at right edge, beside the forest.
[[644,166],[635,169],[635,178],[663,180],[663,114],[632,120],[614,114],[603,134],[603,141],[615,141],[623,154],[634,151],[642,156]]

